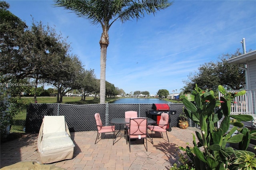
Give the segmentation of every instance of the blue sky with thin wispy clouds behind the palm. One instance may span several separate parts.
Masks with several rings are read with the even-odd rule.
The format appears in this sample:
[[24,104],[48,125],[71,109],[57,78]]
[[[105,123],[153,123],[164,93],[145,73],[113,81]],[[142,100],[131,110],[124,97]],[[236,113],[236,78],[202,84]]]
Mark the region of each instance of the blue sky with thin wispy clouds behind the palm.
[[[9,10],[31,25],[42,21],[68,36],[72,54],[100,79],[102,28],[55,7],[51,0],[7,0]],[[115,22],[109,31],[106,81],[125,93],[159,89],[170,93],[184,87],[182,80],[200,65],[234,53],[245,38],[246,51],[256,50],[256,1],[177,0],[154,15]],[[177,91],[176,91],[177,90]]]

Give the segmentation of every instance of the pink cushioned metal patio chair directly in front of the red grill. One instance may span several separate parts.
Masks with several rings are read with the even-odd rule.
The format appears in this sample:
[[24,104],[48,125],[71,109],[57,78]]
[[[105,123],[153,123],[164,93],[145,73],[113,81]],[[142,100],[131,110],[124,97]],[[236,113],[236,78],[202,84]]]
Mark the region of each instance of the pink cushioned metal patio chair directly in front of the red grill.
[[161,118],[158,125],[148,125],[148,129],[151,130],[151,141],[153,144],[153,131],[154,132],[161,132],[162,138],[164,138],[162,132],[166,132],[166,136],[169,142],[169,138],[167,135],[166,128],[168,127],[169,115],[167,113],[162,113]]

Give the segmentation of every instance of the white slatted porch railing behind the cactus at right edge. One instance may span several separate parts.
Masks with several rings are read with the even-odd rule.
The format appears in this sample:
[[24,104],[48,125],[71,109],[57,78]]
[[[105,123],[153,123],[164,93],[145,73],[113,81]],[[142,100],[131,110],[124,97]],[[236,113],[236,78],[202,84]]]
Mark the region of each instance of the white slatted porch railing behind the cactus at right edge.
[[[241,90],[230,90],[227,92],[236,93]],[[223,96],[219,92],[219,97]],[[246,94],[234,98],[234,103],[231,103],[231,113],[233,115],[251,115],[256,117],[256,89],[246,90]]]

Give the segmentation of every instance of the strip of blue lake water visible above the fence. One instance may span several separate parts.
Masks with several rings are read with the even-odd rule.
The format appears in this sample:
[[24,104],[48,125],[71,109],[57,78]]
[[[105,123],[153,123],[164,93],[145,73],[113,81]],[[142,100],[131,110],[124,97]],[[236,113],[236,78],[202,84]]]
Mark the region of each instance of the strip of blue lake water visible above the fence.
[[116,101],[113,101],[112,103],[115,104],[152,104],[152,103],[169,103],[168,101],[161,100],[161,99],[155,99],[155,98],[122,98],[118,99]]

